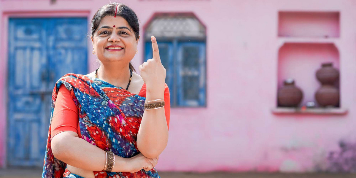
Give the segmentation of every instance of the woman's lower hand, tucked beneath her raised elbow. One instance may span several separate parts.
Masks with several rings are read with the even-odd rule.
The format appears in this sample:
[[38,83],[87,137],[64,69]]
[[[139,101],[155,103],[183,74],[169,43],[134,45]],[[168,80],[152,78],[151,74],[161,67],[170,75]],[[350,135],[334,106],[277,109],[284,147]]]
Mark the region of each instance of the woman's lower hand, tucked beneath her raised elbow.
[[134,173],[137,171],[140,171],[141,169],[144,169],[145,171],[150,171],[153,169],[153,167],[156,166],[158,161],[157,158],[146,158],[143,156],[141,153],[138,155],[129,158],[129,161],[127,162],[127,166],[130,168],[129,172]]

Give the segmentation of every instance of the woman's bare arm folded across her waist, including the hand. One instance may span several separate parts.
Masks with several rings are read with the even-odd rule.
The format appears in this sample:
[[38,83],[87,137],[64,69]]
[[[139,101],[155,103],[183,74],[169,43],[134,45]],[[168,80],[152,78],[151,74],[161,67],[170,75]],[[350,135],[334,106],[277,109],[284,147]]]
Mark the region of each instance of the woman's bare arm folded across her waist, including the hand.
[[[102,171],[105,166],[104,150],[78,137],[72,131],[58,133],[52,138],[52,153],[57,159],[77,168]],[[146,158],[141,153],[131,158],[115,155],[115,165],[111,172],[137,172],[141,169],[151,170],[156,166],[157,158]]]

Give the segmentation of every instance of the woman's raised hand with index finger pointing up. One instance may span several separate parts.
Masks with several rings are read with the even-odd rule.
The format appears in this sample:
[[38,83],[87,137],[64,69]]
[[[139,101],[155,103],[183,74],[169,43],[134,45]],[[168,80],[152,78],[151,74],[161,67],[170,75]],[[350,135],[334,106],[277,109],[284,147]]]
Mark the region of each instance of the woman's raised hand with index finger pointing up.
[[164,87],[164,81],[166,80],[166,69],[161,63],[159,57],[158,45],[156,37],[151,36],[153,58],[148,59],[147,62],[142,63],[138,70],[140,70],[141,77],[146,83],[147,88],[156,86]]

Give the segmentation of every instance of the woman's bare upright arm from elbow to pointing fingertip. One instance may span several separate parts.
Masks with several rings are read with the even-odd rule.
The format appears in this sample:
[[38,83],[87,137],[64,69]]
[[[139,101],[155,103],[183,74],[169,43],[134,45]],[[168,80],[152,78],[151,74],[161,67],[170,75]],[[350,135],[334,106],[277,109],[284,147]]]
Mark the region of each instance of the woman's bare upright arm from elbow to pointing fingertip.
[[[166,79],[166,69],[159,58],[158,45],[155,37],[151,37],[153,58],[141,64],[141,77],[146,83],[146,102],[163,99]],[[165,101],[165,105],[167,101]],[[136,145],[143,156],[158,157],[168,141],[168,127],[164,108],[145,110],[142,115],[140,129],[137,133]]]

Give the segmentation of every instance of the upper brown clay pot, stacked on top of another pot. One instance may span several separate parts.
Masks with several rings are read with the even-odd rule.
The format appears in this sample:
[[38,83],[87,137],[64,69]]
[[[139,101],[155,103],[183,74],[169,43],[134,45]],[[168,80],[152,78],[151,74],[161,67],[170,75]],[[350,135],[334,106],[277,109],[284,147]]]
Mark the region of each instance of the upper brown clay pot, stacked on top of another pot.
[[333,67],[333,63],[321,64],[321,69],[316,71],[316,78],[322,85],[333,85],[337,79],[339,79],[339,70]]

